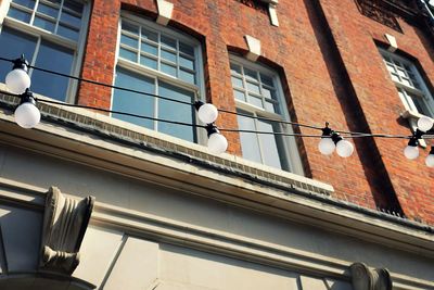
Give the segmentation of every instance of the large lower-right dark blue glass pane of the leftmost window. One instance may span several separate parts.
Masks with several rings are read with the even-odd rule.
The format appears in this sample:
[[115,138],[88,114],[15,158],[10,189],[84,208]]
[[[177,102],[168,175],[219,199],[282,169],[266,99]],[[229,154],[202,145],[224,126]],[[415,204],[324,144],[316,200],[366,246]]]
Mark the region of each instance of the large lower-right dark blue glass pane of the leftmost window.
[[[39,47],[36,66],[71,74],[74,61],[74,50],[42,40]],[[35,70],[31,74],[31,89],[50,98],[65,101],[69,79],[62,76]]]

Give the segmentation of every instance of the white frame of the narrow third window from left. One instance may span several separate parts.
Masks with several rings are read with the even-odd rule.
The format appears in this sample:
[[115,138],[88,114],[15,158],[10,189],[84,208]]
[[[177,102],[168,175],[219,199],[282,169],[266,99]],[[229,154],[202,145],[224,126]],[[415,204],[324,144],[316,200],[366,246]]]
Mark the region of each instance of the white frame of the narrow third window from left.
[[[253,114],[254,116],[258,116],[258,117],[266,117],[266,118],[270,118],[270,119],[279,119],[282,122],[291,122],[291,117],[290,114],[288,112],[288,104],[286,104],[286,100],[283,93],[283,88],[282,88],[282,84],[281,84],[281,79],[280,76],[277,72],[266,67],[265,65],[258,64],[258,63],[253,63],[246,59],[230,54],[229,55],[229,61],[230,63],[233,64],[238,64],[238,65],[242,65],[243,67],[247,67],[251,68],[253,71],[259,72],[259,73],[264,73],[267,76],[271,76],[272,77],[272,81],[275,84],[275,88],[276,88],[276,93],[277,93],[277,98],[278,98],[278,103],[279,103],[279,110],[281,112],[281,114],[278,113],[272,113],[269,111],[266,111],[263,108],[253,105],[251,103],[241,101],[239,99],[237,99],[233,94],[232,97],[235,100],[235,105],[237,105],[237,110],[241,110],[241,111],[245,111],[248,112],[250,114]],[[243,79],[243,81],[245,81],[245,79]],[[232,85],[231,85],[232,86]],[[246,85],[244,84],[244,88],[246,88]],[[232,87],[232,91],[233,91],[233,87]],[[264,97],[263,97],[264,98]],[[257,119],[253,118],[255,122],[255,127],[257,128]],[[289,124],[279,124],[281,127],[281,131],[284,134],[293,134],[294,130],[292,128],[291,125]],[[299,156],[299,152],[298,152],[298,146],[295,141],[294,137],[290,137],[290,136],[282,136],[282,140],[283,140],[283,148],[282,150],[284,152],[280,152],[279,154],[284,154],[284,160],[286,160],[288,164],[282,164],[282,167],[288,167],[288,171],[291,173],[295,173],[298,175],[304,175],[304,169],[302,166],[302,161],[301,161],[301,156]],[[264,149],[260,148],[260,142],[258,142],[259,146],[259,154],[261,160],[264,160],[264,155],[263,155],[263,151]],[[264,163],[260,163],[264,166],[268,166]],[[282,168],[282,171],[286,171],[286,168]]]

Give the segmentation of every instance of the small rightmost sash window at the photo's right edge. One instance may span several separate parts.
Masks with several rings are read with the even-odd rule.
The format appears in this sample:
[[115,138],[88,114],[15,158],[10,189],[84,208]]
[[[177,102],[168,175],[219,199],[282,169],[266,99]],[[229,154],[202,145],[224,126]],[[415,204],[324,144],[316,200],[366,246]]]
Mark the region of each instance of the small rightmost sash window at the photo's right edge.
[[434,117],[434,100],[414,64],[388,51],[380,52],[406,110]]

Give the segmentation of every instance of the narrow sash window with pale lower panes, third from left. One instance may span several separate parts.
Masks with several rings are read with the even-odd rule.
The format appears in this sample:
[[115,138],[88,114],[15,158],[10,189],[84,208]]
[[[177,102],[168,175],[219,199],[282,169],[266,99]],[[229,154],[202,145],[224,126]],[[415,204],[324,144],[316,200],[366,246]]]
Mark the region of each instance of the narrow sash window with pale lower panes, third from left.
[[[239,129],[292,133],[289,125],[252,118],[289,119],[278,74],[235,56],[231,56],[230,67],[237,111],[243,114],[238,116]],[[241,133],[240,140],[244,159],[303,174],[294,138]]]

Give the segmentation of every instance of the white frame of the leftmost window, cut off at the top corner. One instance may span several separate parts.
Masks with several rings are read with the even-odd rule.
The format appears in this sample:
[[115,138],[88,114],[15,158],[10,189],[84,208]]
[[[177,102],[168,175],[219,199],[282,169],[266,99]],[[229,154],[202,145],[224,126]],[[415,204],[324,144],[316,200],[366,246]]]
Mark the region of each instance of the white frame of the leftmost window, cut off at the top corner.
[[[3,0],[2,3],[0,4],[0,34],[1,30],[4,26],[20,30],[26,35],[33,36],[38,38],[38,42],[36,45],[35,49],[35,55],[33,60],[27,60],[30,65],[35,65],[36,63],[36,55],[40,47],[41,39],[47,39],[50,42],[53,42],[55,45],[60,45],[64,48],[74,50],[74,62],[71,68],[71,75],[73,76],[79,76],[79,73],[81,71],[81,65],[82,65],[82,56],[85,52],[85,42],[86,42],[86,37],[88,33],[88,26],[89,26],[89,16],[90,16],[90,2],[88,0],[80,0],[84,3],[84,11],[82,11],[82,18],[81,18],[81,27],[80,27],[80,35],[77,41],[71,40],[66,37],[50,33],[48,30],[44,30],[42,28],[39,28],[37,26],[33,26],[30,24],[17,21],[15,18],[9,17],[8,11],[11,7],[12,0]],[[20,58],[20,55],[16,55],[16,58]],[[12,66],[11,66],[12,67]],[[29,70],[29,75],[31,76],[33,70]],[[68,89],[66,91],[65,96],[65,102],[66,103],[74,103],[76,99],[76,92],[78,88],[78,81],[69,79],[68,81]]]

